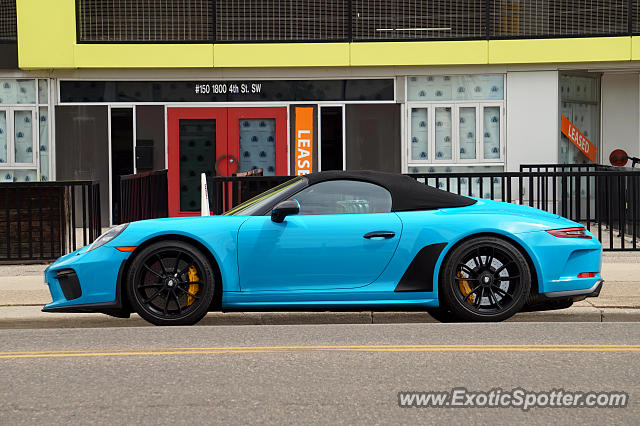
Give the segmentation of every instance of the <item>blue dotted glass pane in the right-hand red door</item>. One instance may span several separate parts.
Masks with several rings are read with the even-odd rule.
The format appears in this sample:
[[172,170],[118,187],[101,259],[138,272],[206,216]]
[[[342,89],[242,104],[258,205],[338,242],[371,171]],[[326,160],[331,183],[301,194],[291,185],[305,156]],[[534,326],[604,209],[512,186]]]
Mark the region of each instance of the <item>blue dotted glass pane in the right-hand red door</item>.
[[240,120],[240,158],[238,172],[263,169],[264,176],[276,174],[276,120],[245,118]]

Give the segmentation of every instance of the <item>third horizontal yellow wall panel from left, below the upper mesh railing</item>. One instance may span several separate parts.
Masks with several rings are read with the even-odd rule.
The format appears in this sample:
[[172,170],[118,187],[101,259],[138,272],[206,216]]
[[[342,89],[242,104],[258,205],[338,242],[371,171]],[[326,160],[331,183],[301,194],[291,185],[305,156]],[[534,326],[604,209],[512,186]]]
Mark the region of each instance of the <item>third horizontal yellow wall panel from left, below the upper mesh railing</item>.
[[351,44],[351,65],[486,64],[486,41],[413,41]]

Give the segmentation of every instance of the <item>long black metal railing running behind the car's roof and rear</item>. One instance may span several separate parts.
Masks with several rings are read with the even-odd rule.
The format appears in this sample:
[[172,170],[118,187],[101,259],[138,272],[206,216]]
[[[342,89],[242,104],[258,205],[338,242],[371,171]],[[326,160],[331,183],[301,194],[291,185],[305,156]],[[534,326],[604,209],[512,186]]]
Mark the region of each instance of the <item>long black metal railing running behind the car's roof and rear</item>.
[[[409,176],[445,191],[527,205],[580,222],[605,250],[640,250],[640,173],[605,166],[523,167],[536,171]],[[291,176],[210,178],[212,213],[222,214],[288,179]]]

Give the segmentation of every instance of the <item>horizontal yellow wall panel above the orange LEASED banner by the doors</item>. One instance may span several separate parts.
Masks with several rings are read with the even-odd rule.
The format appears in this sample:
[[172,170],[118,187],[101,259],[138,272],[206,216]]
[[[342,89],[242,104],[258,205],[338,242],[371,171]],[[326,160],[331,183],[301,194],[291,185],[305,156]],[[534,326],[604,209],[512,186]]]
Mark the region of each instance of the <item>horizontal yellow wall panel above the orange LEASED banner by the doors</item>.
[[216,44],[215,67],[344,67],[348,43]]

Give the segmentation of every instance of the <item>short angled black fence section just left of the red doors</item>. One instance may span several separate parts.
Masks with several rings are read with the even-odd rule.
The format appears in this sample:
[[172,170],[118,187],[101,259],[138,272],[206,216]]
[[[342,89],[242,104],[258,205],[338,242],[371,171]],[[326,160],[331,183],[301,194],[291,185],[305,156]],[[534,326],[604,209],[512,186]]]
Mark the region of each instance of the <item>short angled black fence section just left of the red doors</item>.
[[120,176],[120,222],[167,217],[167,170]]

